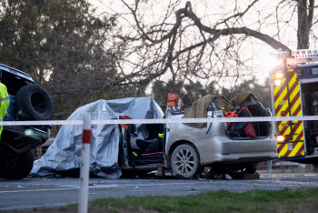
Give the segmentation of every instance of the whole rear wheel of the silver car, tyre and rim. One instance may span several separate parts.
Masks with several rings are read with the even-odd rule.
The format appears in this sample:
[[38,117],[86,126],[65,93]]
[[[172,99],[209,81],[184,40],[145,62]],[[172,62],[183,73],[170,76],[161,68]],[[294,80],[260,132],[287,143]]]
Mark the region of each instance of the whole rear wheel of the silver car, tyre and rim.
[[194,177],[200,167],[200,156],[194,146],[182,144],[175,147],[170,164],[175,177]]

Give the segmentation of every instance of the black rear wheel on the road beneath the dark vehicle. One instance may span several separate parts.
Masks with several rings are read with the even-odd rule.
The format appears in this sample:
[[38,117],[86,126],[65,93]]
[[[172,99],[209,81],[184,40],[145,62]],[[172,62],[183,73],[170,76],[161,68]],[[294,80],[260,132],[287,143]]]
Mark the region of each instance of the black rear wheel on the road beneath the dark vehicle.
[[33,167],[31,150],[15,155],[0,165],[0,178],[23,179],[29,175]]

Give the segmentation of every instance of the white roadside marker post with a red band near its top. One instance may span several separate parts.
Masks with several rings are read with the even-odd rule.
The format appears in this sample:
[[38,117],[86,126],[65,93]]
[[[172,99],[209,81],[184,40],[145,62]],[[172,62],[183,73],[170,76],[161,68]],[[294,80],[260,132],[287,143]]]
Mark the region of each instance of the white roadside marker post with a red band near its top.
[[80,191],[78,202],[78,213],[86,213],[88,208],[88,180],[89,180],[89,154],[91,147],[91,117],[84,116],[83,139],[82,139],[82,157],[80,172]]

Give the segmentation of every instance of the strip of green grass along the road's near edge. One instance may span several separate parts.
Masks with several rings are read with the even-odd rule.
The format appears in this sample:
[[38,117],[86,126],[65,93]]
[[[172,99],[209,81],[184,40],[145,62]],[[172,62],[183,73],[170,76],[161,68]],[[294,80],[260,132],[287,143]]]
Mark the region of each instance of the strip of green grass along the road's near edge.
[[[89,212],[317,212],[318,188],[253,190],[234,193],[225,190],[184,197],[126,197],[98,199]],[[45,212],[76,212],[76,205],[43,208]],[[41,212],[42,209],[36,209]],[[24,211],[25,212],[25,211]]]

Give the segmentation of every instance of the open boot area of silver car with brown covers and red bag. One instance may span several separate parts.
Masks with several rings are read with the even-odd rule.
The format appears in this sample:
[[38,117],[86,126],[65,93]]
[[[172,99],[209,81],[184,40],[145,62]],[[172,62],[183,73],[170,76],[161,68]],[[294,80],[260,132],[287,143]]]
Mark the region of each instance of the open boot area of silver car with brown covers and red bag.
[[[174,107],[171,107],[174,108]],[[198,117],[271,117],[271,112],[251,92],[235,96],[232,102],[225,96],[208,95],[196,99],[184,109],[183,118]],[[205,128],[206,123],[186,123],[188,127]],[[231,139],[263,139],[272,132],[271,122],[226,123],[225,133]],[[211,127],[211,126],[210,126]],[[210,127],[207,127],[210,129]]]

